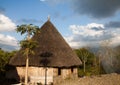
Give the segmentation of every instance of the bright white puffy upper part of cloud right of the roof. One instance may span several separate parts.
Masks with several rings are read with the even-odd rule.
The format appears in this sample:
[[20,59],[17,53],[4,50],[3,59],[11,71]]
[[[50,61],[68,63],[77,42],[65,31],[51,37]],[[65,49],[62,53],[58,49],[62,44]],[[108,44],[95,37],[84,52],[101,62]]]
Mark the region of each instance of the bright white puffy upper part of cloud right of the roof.
[[[93,28],[97,28],[96,30]],[[86,26],[71,25],[70,29],[73,34],[84,35],[84,36],[99,36],[103,34],[104,26],[102,24],[91,23]]]

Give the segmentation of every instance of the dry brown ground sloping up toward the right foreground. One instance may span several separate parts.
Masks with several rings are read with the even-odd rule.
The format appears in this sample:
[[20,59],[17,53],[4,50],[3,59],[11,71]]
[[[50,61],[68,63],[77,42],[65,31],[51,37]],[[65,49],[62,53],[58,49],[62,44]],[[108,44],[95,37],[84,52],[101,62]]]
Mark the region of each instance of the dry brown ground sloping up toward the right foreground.
[[120,74],[112,73],[101,76],[66,79],[57,85],[120,85]]

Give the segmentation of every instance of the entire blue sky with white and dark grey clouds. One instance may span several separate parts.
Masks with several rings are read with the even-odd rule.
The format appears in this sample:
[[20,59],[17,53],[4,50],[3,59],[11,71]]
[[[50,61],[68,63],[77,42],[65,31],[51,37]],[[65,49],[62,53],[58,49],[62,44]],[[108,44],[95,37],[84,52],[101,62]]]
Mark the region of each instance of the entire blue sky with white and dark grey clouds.
[[17,25],[51,22],[72,48],[120,44],[120,0],[0,0],[0,48],[18,49]]

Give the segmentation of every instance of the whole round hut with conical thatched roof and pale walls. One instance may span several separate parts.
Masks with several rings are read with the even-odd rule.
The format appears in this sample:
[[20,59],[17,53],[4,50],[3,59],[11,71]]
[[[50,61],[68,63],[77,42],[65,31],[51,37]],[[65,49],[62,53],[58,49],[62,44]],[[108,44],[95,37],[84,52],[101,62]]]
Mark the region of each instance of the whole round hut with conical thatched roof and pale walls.
[[[81,61],[51,21],[45,22],[39,30],[40,32],[32,37],[38,42],[38,46],[34,49],[35,54],[29,56],[29,82],[44,84],[45,76],[47,76],[47,84],[77,77],[77,67]],[[26,57],[23,55],[22,49],[11,58],[9,64],[16,67],[20,82],[22,82],[25,77],[26,64]],[[47,68],[46,74],[45,67]],[[18,78],[14,72],[11,71],[7,76]]]

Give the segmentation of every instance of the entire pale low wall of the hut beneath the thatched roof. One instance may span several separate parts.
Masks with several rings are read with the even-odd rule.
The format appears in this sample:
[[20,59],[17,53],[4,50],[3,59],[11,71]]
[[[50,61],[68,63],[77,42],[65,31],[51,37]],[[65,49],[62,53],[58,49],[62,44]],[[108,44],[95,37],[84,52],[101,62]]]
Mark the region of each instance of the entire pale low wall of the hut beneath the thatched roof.
[[[25,67],[16,67],[16,71],[10,70],[7,73],[8,78],[18,79],[20,77],[21,82],[24,82],[25,78]],[[17,73],[17,75],[15,74]],[[29,67],[28,68],[28,77],[30,83],[45,83],[45,68],[43,67]],[[47,84],[48,83],[58,83],[63,81],[66,78],[77,78],[78,70],[77,68],[61,68],[61,75],[58,75],[58,68],[47,68]]]

